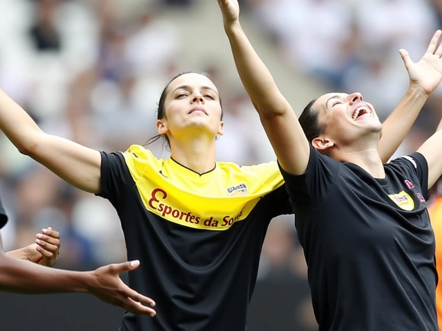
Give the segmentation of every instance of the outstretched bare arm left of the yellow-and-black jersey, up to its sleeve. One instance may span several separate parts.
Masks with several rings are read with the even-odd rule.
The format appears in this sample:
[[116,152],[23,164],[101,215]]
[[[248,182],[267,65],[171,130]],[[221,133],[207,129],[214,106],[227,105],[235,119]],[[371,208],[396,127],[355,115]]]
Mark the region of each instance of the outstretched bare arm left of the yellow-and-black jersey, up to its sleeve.
[[43,132],[15,101],[0,90],[0,130],[22,153],[45,165],[81,190],[100,190],[101,156],[86,148]]

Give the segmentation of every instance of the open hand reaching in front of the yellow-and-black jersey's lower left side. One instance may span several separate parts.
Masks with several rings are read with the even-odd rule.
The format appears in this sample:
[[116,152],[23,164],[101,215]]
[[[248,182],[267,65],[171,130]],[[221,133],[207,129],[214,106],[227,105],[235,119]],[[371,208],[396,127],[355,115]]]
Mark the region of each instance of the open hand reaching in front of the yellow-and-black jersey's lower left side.
[[131,261],[97,268],[93,271],[95,282],[90,284],[90,293],[101,301],[119,305],[128,312],[154,317],[155,310],[146,305],[153,307],[155,301],[132,290],[119,278],[120,273],[135,270],[139,265],[140,261]]

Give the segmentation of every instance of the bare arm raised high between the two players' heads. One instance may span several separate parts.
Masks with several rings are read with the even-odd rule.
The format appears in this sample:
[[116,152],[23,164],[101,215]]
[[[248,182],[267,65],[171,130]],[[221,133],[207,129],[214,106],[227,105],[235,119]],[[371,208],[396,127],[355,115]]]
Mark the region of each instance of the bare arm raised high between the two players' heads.
[[302,174],[309,161],[309,142],[298,118],[244,34],[238,0],[218,0],[218,3],[238,74],[260,114],[278,161],[285,171]]

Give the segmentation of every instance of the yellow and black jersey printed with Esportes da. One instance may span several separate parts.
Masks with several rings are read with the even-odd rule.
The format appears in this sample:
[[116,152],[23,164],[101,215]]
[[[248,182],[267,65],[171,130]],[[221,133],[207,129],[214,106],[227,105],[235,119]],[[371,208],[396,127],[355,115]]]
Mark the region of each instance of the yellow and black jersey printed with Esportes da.
[[141,261],[131,287],[156,302],[154,318],[126,312],[120,330],[245,330],[269,221],[292,213],[276,162],[200,175],[131,146],[102,152],[99,195]]

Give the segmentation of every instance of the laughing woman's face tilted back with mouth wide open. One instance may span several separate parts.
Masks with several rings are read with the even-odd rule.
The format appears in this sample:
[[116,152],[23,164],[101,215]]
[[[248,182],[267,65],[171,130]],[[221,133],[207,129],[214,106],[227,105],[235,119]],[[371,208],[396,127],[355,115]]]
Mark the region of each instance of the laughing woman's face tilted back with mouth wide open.
[[381,137],[381,121],[372,104],[363,101],[361,93],[327,93],[312,108],[318,109],[318,121],[326,126],[320,137],[336,145],[352,144],[365,136],[376,137],[369,134],[373,132]]

